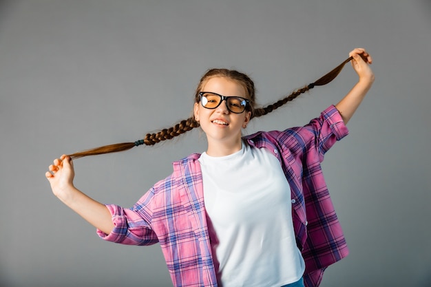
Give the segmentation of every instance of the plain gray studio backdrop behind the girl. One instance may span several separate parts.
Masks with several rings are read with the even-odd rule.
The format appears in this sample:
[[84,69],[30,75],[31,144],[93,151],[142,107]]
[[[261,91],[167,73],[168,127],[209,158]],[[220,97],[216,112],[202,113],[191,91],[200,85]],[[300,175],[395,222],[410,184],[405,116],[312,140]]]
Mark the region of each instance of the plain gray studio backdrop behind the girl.
[[[52,195],[62,153],[134,141],[187,118],[209,67],[236,68],[272,103],[366,47],[375,85],[323,168],[350,246],[322,286],[431,286],[430,1],[0,1],[3,286],[171,286],[158,245],[103,242]],[[304,125],[357,81],[258,118]],[[198,129],[158,147],[75,161],[76,187],[131,206]]]

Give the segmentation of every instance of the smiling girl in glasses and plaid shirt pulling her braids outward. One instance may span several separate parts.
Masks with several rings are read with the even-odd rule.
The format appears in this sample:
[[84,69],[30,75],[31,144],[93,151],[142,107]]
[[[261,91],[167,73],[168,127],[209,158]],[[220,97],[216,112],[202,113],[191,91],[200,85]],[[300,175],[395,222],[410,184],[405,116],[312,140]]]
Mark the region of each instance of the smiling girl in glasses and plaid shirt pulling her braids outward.
[[200,126],[207,151],[174,162],[171,176],[131,209],[74,187],[72,158],[92,153],[63,155],[45,176],[54,195],[103,239],[160,243],[174,286],[318,286],[324,269],[348,254],[320,162],[348,134],[345,125],[374,81],[368,52],[357,48],[350,56],[359,81],[337,105],[304,127],[246,137],[251,118],[272,108],[255,107],[248,76],[209,70],[196,89],[194,118],[134,143]]

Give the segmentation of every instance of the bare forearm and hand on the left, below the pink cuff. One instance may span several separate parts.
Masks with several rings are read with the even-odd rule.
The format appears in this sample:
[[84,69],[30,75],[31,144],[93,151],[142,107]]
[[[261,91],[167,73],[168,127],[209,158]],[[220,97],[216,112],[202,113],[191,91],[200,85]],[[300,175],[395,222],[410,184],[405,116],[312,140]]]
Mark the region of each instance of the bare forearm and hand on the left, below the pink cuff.
[[114,224],[107,207],[74,187],[74,167],[70,157],[63,155],[57,158],[49,170],[45,176],[51,184],[52,193],[87,222],[106,234],[111,233]]

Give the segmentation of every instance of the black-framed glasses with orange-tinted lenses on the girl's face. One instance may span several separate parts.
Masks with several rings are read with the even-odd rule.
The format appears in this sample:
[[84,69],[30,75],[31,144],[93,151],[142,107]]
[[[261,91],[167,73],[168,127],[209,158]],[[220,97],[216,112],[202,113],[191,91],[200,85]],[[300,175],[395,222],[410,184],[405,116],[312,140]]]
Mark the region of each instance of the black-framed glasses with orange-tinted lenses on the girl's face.
[[199,96],[202,107],[207,109],[215,109],[223,100],[226,100],[227,109],[234,114],[241,114],[250,102],[250,100],[240,96],[222,96],[212,92],[200,92]]

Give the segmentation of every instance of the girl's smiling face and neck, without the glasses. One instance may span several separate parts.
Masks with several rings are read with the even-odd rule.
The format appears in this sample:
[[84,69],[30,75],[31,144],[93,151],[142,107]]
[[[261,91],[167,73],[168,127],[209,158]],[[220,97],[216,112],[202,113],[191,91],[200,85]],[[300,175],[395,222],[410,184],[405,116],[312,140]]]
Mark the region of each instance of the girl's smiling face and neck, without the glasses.
[[[210,78],[200,92],[247,98],[242,85],[224,77]],[[241,149],[241,131],[249,123],[250,111],[232,113],[227,109],[226,100],[223,100],[215,109],[207,109],[201,103],[195,103],[194,115],[207,135],[207,153],[210,156],[223,156]]]

